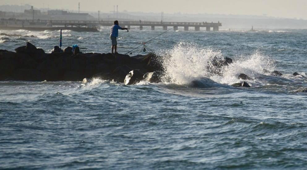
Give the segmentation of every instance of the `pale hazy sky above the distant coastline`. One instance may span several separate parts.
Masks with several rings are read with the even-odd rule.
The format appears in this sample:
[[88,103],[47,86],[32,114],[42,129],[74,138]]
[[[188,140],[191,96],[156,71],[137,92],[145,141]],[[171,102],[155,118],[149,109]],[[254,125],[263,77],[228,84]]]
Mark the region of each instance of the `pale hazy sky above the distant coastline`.
[[108,12],[118,10],[164,13],[263,15],[307,19],[307,0],[0,0],[4,4]]

